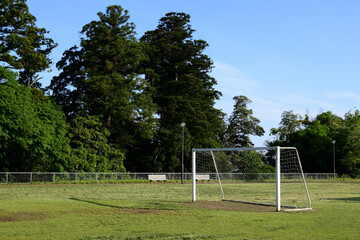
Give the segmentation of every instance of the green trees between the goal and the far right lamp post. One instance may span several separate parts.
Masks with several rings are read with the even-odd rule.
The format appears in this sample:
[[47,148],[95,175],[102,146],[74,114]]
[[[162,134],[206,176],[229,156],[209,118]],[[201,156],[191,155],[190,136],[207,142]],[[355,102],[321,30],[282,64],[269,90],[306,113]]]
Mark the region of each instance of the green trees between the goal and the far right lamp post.
[[[271,134],[277,139],[269,141],[269,146],[296,147],[300,153],[305,172],[332,172],[332,141],[335,128],[333,119],[338,117],[331,112],[319,114],[305,120],[293,111],[284,111],[279,128],[272,128]],[[340,118],[341,120],[341,118]]]

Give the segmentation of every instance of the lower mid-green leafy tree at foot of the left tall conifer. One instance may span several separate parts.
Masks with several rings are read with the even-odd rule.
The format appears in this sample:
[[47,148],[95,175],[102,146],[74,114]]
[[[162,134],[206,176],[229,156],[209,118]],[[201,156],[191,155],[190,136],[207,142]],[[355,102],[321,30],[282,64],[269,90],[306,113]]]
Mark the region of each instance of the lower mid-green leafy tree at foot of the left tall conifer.
[[71,171],[124,172],[124,154],[108,143],[109,135],[97,117],[76,117],[69,132]]

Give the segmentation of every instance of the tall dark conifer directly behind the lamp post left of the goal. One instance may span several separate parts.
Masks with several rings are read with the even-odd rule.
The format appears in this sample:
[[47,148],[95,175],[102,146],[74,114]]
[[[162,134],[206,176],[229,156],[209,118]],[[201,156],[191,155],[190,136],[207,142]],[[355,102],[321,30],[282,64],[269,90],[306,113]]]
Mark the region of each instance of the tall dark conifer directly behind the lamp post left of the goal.
[[154,170],[180,169],[181,122],[186,123],[185,158],[189,159],[190,146],[220,146],[217,132],[223,113],[214,104],[221,93],[209,75],[213,63],[203,53],[208,44],[193,39],[189,22],[190,15],[171,12],[141,38],[149,56],[144,65],[146,79],[155,88],[160,122],[153,143]]

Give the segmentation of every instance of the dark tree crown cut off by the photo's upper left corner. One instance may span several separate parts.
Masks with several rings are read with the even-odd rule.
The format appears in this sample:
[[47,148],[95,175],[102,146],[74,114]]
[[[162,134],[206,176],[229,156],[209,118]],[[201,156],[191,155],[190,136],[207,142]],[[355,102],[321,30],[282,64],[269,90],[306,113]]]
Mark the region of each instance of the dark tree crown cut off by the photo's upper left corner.
[[2,0],[0,13],[0,62],[20,70],[21,83],[40,87],[37,73],[49,67],[49,54],[57,44],[45,37],[45,28],[35,25],[26,0]]

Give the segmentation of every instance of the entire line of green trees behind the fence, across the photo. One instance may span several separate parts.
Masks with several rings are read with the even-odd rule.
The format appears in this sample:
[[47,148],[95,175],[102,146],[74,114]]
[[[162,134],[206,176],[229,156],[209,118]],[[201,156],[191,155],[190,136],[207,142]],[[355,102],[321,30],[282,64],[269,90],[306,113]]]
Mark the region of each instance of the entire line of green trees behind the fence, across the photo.
[[[208,44],[193,38],[186,13],[167,13],[137,39],[128,11],[107,7],[83,26],[80,44],[63,53],[60,73],[42,88],[39,73],[52,64],[57,44],[36,26],[26,0],[4,0],[0,7],[0,171],[180,171],[181,123],[190,171],[191,148],[253,146],[250,136],[265,133],[246,96],[234,97],[228,118],[214,107],[221,92],[204,53]],[[332,127],[323,114],[310,120],[290,113],[295,119],[283,114],[269,146],[296,146],[308,154],[306,170],[324,172],[330,166],[325,144],[334,139],[339,170],[359,172],[352,148],[359,135],[351,129],[358,112],[345,119],[326,113],[338,120]],[[326,139],[315,141],[310,127]],[[315,145],[301,145],[309,142],[305,136]]]

